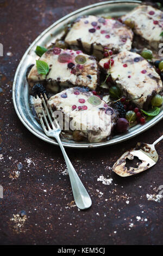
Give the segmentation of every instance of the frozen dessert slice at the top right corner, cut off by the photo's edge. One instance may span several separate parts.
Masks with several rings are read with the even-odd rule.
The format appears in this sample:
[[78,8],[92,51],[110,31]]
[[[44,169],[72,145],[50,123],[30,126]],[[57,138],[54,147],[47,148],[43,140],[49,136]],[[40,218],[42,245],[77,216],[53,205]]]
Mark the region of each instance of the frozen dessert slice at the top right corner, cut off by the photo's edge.
[[[139,5],[130,13],[122,16],[125,23],[133,22],[133,31],[155,50],[159,50],[159,44],[163,41],[163,12],[151,5]],[[148,45],[147,45],[148,44]]]

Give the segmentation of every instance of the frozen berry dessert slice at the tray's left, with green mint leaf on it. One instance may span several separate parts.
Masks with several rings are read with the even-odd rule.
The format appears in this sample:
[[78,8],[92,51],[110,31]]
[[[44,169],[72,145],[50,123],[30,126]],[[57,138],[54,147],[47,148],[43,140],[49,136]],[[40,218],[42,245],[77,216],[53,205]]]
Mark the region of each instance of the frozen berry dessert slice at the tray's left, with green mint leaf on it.
[[95,90],[98,84],[98,65],[94,57],[82,51],[63,50],[55,47],[45,52],[40,61],[49,67],[47,75],[39,74],[36,64],[30,70],[28,82],[34,86],[36,82],[44,81],[46,89],[56,92],[57,86],[85,86]]

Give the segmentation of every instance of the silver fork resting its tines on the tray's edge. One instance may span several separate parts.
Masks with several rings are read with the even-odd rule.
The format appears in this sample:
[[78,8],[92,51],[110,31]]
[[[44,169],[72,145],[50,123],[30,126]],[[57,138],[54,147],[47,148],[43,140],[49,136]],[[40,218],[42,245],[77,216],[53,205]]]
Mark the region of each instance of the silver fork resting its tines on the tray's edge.
[[[45,102],[45,99],[46,99],[46,102]],[[88,209],[92,205],[91,198],[90,198],[89,194],[87,193],[85,187],[83,186],[82,181],[80,181],[80,178],[77,175],[76,170],[73,168],[73,165],[70,162],[70,159],[68,158],[68,156],[66,154],[65,148],[62,145],[62,142],[61,142],[60,136],[59,136],[60,133],[61,133],[60,126],[59,126],[57,120],[53,117],[53,111],[52,111],[51,105],[48,103],[48,99],[47,99],[46,95],[45,95],[45,99],[43,98],[43,96],[41,96],[41,101],[42,101],[43,106],[45,107],[45,110],[46,110],[46,113],[45,113],[45,111],[42,108],[42,115],[43,115],[43,118],[46,122],[46,125],[47,125],[48,129],[46,129],[45,124],[43,123],[42,116],[41,116],[41,114],[39,114],[39,118],[40,118],[42,128],[43,128],[45,134],[48,137],[55,138],[58,141],[58,144],[61,148],[62,154],[65,158],[65,162],[66,162],[66,165],[67,165],[67,170],[68,170],[68,174],[69,174],[69,177],[70,177],[73,197],[74,197],[74,201],[75,201],[76,205],[81,210]],[[48,108],[51,111],[51,115],[54,119],[55,125],[52,121],[51,115],[49,114]],[[46,116],[46,114],[47,114],[47,116]],[[48,120],[51,123],[52,129],[49,126]]]

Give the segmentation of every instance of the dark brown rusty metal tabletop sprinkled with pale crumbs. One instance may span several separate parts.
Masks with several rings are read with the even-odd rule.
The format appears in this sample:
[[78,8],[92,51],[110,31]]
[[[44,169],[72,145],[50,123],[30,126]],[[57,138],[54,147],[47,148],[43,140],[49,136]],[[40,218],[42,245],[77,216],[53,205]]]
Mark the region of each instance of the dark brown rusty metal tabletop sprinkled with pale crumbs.
[[[23,53],[45,28],[96,0],[0,1],[0,244],[1,245],[162,245],[163,144],[150,170],[121,178],[111,166],[137,141],[152,143],[163,121],[119,145],[91,150],[67,149],[92,207],[73,203],[65,163],[58,147],[37,139],[18,120],[12,82]],[[21,212],[21,215],[18,213]]]

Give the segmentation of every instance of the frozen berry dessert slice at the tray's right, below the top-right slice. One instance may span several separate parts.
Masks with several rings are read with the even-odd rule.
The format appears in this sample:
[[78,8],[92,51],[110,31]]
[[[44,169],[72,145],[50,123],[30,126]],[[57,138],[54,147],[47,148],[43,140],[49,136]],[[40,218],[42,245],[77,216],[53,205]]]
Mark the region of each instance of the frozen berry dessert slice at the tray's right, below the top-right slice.
[[[104,72],[111,74],[112,80],[141,109],[148,109],[152,97],[162,91],[162,81],[158,73],[142,56],[135,52],[123,51],[111,56],[114,64],[109,69],[109,58],[99,62]],[[112,62],[113,62],[112,61]]]

